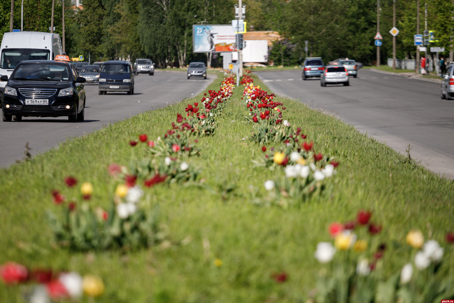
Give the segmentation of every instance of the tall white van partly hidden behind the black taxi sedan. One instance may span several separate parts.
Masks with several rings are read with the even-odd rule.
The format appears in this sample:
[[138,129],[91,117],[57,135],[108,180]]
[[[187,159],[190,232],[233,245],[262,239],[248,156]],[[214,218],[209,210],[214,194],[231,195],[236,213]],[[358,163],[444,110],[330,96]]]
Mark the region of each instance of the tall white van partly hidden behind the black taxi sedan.
[[[59,34],[18,31],[3,34],[0,50],[0,75],[9,78],[20,61],[54,60],[61,55],[62,47]],[[6,81],[0,81],[2,93],[5,85]]]

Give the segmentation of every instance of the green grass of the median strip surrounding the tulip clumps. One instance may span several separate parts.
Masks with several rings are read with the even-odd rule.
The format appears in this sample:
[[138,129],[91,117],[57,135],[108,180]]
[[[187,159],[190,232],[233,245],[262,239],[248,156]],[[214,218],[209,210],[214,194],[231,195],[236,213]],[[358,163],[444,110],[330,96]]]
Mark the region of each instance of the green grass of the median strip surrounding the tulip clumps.
[[[218,76],[208,89],[219,87],[222,74]],[[255,83],[260,83],[257,77]],[[169,240],[175,243],[191,236],[188,245],[71,252],[53,243],[45,217],[46,209],[59,208],[51,201],[52,189],[62,190],[69,199],[79,196],[78,189],[65,188],[67,175],[79,184],[94,185],[89,204],[109,205],[115,182],[107,166],[127,165],[131,158],[146,156],[143,145],[132,148],[128,141],[142,133],[152,139],[163,135],[176,114],[184,112],[187,103],[179,103],[68,139],[58,149],[1,169],[0,263],[13,260],[99,275],[106,292],[96,302],[293,303],[305,302],[315,287],[320,265],[314,251],[317,242],[330,240],[328,224],[354,219],[358,209],[370,209],[374,222],[383,225],[376,243],[388,244],[383,260],[386,276],[410,262],[411,250],[405,245],[410,229],[421,229],[425,237],[431,234],[446,246],[444,234],[454,230],[453,181],[406,163],[402,155],[353,126],[291,99],[277,98],[286,105],[285,117],[301,126],[318,152],[341,162],[338,174],[327,180],[333,191],[289,209],[251,204],[251,190],[265,194],[263,182],[283,172],[254,167],[251,160],[262,157],[262,146],[242,140],[252,128],[242,123],[247,111],[241,94],[242,87],[235,89],[215,135],[199,139],[202,154],[189,159],[202,167],[201,178],[213,188],[237,184],[233,194],[222,199],[204,189],[163,184],[145,189],[148,199],[160,206]],[[209,250],[204,251],[202,241],[209,241]],[[221,267],[213,264],[215,258],[222,260]],[[270,276],[282,270],[289,279],[276,284]],[[0,302],[22,302],[18,293],[18,287],[0,284]]]

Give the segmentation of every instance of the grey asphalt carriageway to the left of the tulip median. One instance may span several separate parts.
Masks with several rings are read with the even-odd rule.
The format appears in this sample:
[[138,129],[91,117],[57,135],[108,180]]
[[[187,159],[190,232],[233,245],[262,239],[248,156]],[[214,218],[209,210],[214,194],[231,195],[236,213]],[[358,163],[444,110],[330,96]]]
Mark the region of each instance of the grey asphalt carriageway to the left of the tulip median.
[[183,71],[159,71],[154,76],[135,76],[134,94],[98,94],[98,85],[85,85],[86,107],[84,122],[69,123],[68,117],[24,117],[22,121],[0,120],[0,167],[24,157],[26,142],[30,153],[42,153],[66,138],[77,137],[100,129],[103,124],[123,120],[139,112],[164,107],[167,103],[194,96],[205,89],[216,75],[208,79],[186,79]]

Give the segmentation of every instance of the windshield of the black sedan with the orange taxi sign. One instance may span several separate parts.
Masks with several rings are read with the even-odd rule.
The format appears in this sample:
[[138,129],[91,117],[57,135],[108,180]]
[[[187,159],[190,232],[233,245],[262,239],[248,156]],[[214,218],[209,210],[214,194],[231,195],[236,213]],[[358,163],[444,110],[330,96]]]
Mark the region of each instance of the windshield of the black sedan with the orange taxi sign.
[[68,80],[69,70],[65,64],[58,63],[25,63],[20,64],[11,79],[51,79]]

